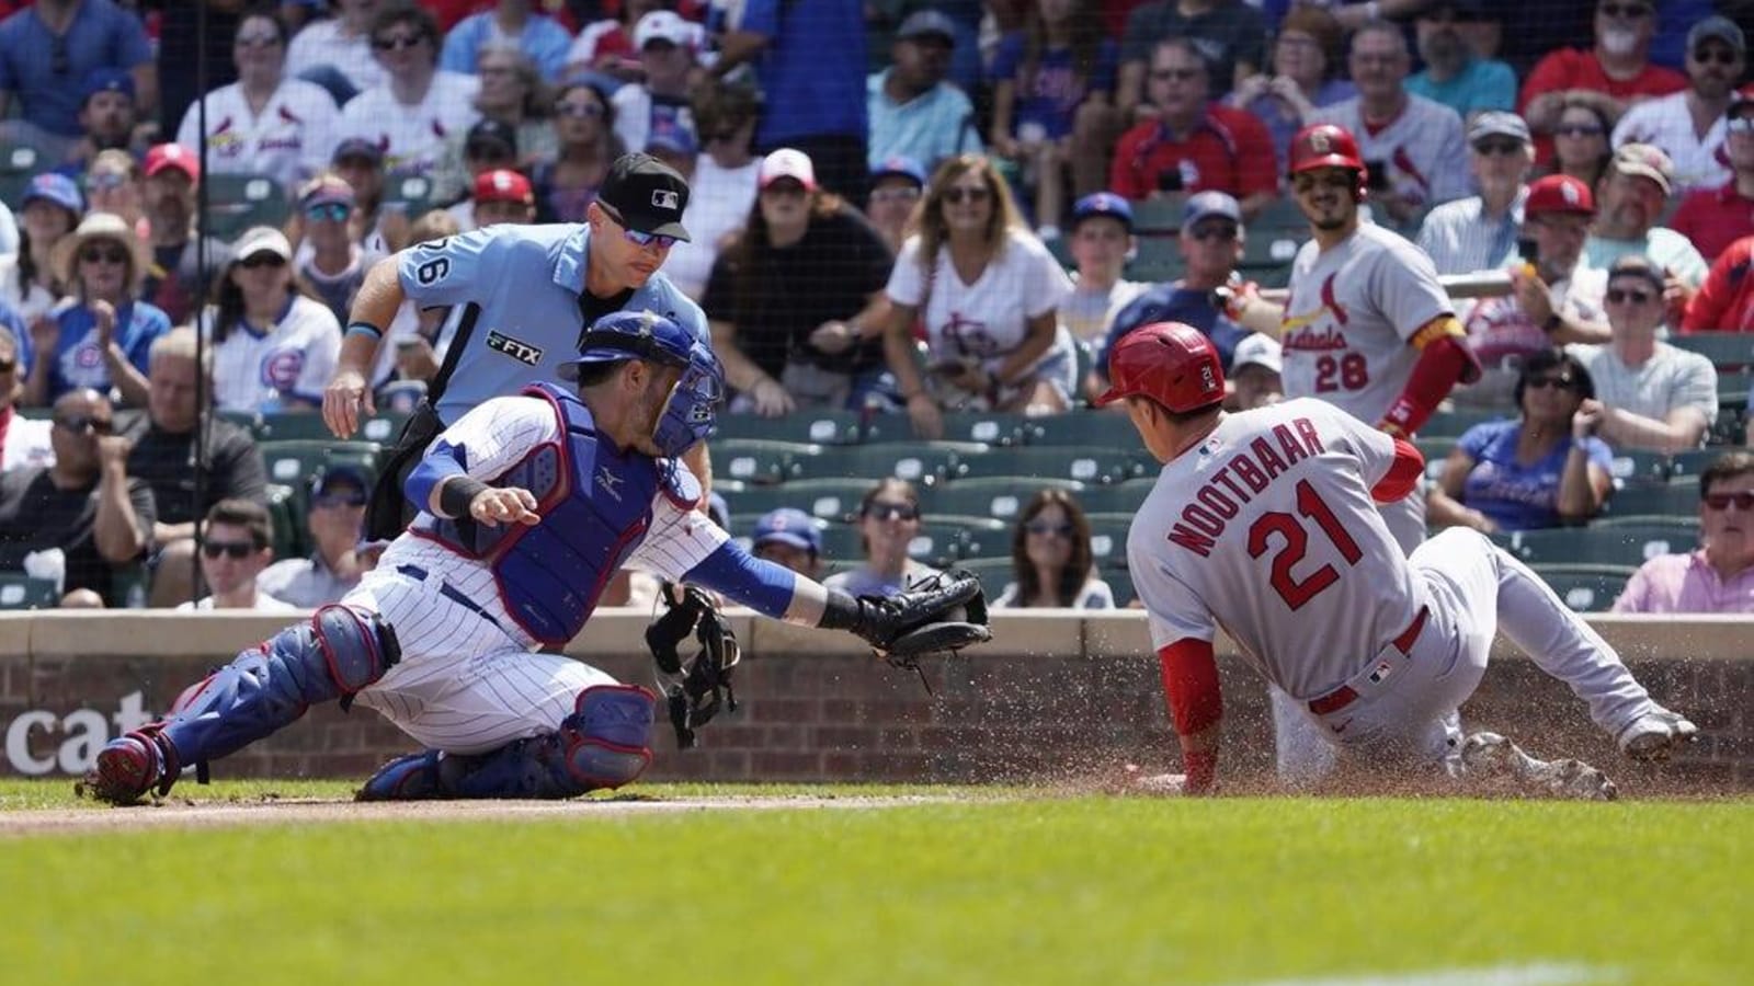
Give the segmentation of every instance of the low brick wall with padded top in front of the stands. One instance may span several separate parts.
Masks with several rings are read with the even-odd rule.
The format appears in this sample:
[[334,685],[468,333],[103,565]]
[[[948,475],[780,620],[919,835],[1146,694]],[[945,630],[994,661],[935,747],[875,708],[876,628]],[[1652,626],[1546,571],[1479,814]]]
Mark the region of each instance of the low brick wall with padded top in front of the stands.
[[[640,616],[605,614],[568,651],[623,681],[649,681]],[[65,775],[111,735],[237,647],[272,633],[261,618],[172,614],[0,616],[0,774]],[[1572,754],[1628,782],[1754,788],[1754,623],[1605,618],[1652,693],[1708,735],[1658,772],[1619,761],[1582,704],[1528,660],[1501,649],[1465,709],[1540,754]],[[889,668],[838,635],[738,619],[747,658],[742,711],[675,751],[660,730],[652,779],[700,781],[1023,781],[1080,775],[1142,760],[1173,767],[1156,661],[1144,619],[1003,616],[993,644],[931,660],[924,675]],[[1665,653],[1666,651],[1666,653]],[[1226,684],[1226,770],[1272,763],[1263,686],[1235,660]],[[363,777],[414,744],[370,711],[314,709],[303,721],[216,767],[219,775]],[[1636,784],[1629,784],[1636,788]]]

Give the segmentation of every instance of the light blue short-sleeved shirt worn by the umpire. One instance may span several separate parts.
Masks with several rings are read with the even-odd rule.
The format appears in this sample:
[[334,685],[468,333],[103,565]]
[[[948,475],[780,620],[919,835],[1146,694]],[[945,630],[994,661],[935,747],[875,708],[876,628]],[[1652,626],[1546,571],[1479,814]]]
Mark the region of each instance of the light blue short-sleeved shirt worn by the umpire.
[[586,325],[614,311],[654,311],[710,344],[707,316],[663,272],[626,300],[581,298],[591,228],[498,225],[402,251],[403,295],[423,309],[461,305],[456,335],[433,386],[446,425],[470,407],[537,381],[560,386],[556,368],[579,354]]

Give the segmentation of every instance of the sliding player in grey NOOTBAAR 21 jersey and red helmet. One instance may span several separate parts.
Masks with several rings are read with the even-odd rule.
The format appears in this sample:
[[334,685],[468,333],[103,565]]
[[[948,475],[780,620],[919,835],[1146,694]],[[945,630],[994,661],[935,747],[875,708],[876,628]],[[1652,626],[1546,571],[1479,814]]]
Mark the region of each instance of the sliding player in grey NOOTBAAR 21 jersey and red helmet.
[[1482,533],[1452,528],[1405,556],[1377,511],[1412,493],[1424,470],[1405,439],[1310,398],[1226,414],[1217,351],[1180,323],[1124,337],[1109,379],[1098,402],[1126,402],[1165,463],[1126,540],[1186,770],[1151,788],[1212,790],[1219,628],[1330,744],[1368,763],[1614,797],[1600,770],[1575,760],[1538,761],[1494,733],[1456,735],[1449,712],[1479,686],[1498,630],[1570,684],[1628,756],[1666,756],[1698,732]]

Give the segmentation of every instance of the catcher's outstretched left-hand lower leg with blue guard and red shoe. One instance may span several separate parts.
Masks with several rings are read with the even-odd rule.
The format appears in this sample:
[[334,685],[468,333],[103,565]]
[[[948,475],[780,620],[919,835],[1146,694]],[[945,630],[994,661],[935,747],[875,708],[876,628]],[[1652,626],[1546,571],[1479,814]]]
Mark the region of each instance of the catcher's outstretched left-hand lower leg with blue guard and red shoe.
[[305,714],[384,677],[402,651],[375,612],[332,604],[240,653],[182,693],[170,718],[111,740],[86,782],[93,797],[132,804],[170,791],[184,767],[205,781],[207,761],[260,740]]

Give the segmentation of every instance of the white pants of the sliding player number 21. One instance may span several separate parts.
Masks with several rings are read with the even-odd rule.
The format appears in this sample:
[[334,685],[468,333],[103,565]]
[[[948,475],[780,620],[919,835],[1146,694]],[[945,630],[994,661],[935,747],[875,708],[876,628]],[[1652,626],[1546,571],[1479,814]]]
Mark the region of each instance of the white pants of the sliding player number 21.
[[1408,565],[1430,607],[1410,651],[1384,646],[1347,682],[1356,700],[1324,716],[1307,712],[1342,751],[1452,761],[1459,737],[1451,711],[1479,688],[1498,630],[1566,682],[1610,735],[1656,707],[1614,647],[1486,535],[1451,528]]

